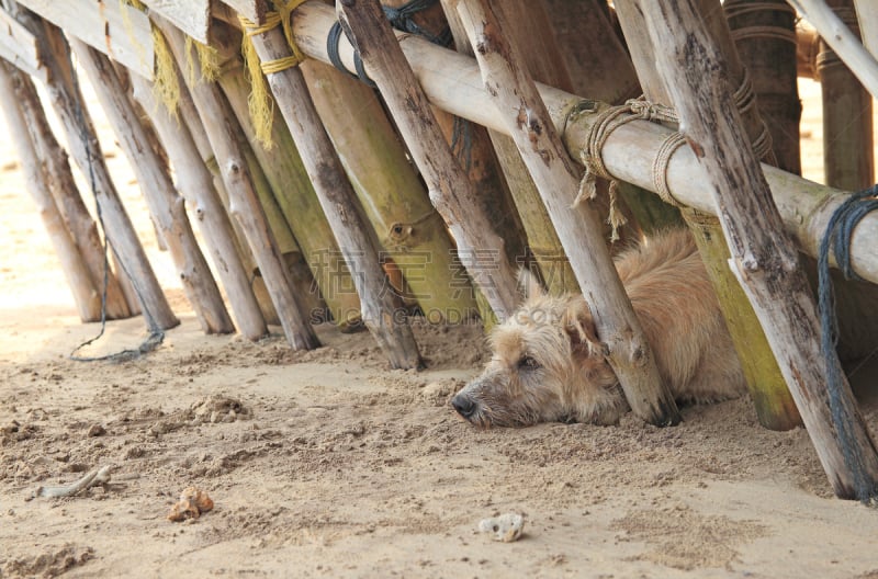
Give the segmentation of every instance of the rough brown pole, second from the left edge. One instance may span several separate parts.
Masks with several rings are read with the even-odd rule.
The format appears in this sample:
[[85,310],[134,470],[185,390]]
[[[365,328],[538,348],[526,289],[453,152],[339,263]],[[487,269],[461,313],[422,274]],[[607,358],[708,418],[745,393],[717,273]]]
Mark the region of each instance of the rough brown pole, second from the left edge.
[[[24,126],[30,134],[31,146],[41,163],[45,166],[47,191],[52,194],[74,245],[88,268],[91,286],[98,292],[99,299],[105,296],[104,314],[108,319],[128,318],[134,313],[128,307],[119,277],[105,260],[98,226],[79,194],[67,152],[58,144],[49,127],[36,87],[25,75],[13,73],[13,78],[15,99],[25,118]],[[97,317],[83,321],[100,319],[99,309]]]

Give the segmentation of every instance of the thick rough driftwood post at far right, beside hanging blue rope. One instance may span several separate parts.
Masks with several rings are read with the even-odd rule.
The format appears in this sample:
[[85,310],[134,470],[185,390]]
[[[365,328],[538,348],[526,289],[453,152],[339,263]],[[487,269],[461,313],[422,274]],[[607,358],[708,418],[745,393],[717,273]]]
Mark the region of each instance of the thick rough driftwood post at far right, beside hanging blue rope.
[[[842,447],[833,427],[814,302],[743,130],[728,65],[693,4],[643,2],[652,46],[664,55],[656,65],[677,103],[683,132],[714,188],[733,256],[730,265],[756,309],[830,483],[838,497],[866,500],[878,483],[878,453],[843,374],[841,402],[853,430],[849,446]],[[846,463],[846,453],[860,473]],[[859,474],[867,480],[859,480]]]

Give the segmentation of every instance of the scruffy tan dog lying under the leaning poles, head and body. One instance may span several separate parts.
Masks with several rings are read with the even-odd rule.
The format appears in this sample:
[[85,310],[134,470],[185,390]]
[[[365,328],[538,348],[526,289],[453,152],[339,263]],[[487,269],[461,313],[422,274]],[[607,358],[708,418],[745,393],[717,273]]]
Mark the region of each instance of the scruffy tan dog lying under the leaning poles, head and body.
[[[744,391],[741,365],[687,230],[644,241],[621,253],[616,268],[677,400],[718,401]],[[600,354],[585,299],[551,297],[529,274],[525,277],[529,298],[493,331],[491,362],[451,405],[485,428],[617,423],[629,406]]]

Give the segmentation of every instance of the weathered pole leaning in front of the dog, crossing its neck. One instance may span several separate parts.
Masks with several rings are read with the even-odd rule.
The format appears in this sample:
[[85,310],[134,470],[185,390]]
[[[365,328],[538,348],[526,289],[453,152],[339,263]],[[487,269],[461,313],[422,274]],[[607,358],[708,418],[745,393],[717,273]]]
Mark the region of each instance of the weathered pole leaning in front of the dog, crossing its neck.
[[505,22],[482,0],[458,3],[482,77],[503,113],[552,217],[559,238],[631,409],[653,424],[679,422],[674,398],[637,319],[587,200],[577,200],[579,168],[573,164],[537,87],[517,66],[516,48],[499,34]]

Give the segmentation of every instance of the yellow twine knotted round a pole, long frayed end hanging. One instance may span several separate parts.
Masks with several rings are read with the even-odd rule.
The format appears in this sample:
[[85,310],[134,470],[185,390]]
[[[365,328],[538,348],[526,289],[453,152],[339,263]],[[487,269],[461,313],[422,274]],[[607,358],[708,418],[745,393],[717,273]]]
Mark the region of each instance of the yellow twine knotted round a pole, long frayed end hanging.
[[[274,112],[274,102],[268,92],[266,79],[262,76],[272,75],[297,66],[305,59],[305,55],[296,46],[295,38],[293,37],[292,26],[292,12],[305,0],[289,0],[278,3],[277,12],[268,12],[264,16],[263,24],[257,24],[244,16],[239,16],[245,35],[241,43],[241,55],[244,56],[245,73],[249,77],[251,92],[247,99],[247,105],[250,110],[250,118],[254,123],[254,130],[256,138],[266,149],[271,149],[273,143],[271,140],[271,123]],[[259,55],[256,53],[256,47],[252,43],[252,36],[257,34],[264,34],[278,25],[282,25],[283,35],[286,38],[286,44],[293,53],[291,56],[278,58],[260,63]],[[261,72],[261,73],[260,73]]]

